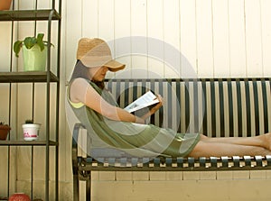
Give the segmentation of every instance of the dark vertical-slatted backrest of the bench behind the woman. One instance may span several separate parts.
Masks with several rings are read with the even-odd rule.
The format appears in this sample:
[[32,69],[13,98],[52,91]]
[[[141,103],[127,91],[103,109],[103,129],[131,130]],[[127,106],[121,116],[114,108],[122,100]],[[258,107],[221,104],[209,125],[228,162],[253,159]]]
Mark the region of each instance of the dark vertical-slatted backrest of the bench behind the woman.
[[109,79],[107,88],[125,107],[147,90],[164,96],[150,123],[211,137],[271,131],[270,78]]

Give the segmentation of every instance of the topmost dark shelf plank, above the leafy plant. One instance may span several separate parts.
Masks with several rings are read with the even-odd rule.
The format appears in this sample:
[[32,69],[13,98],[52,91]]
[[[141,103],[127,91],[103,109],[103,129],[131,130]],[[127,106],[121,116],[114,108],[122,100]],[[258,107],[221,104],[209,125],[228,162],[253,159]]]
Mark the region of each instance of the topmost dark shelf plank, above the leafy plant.
[[61,15],[55,9],[48,9],[0,11],[0,21],[45,21],[49,20],[51,11],[53,11],[52,20],[61,20]]

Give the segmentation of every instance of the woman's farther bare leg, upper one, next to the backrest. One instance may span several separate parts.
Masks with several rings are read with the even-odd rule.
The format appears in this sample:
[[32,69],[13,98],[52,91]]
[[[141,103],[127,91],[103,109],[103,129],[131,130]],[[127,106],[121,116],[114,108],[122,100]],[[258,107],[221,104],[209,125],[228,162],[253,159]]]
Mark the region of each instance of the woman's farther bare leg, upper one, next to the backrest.
[[266,133],[255,137],[221,137],[221,138],[209,138],[204,135],[201,135],[201,141],[257,146],[271,151],[271,133]]

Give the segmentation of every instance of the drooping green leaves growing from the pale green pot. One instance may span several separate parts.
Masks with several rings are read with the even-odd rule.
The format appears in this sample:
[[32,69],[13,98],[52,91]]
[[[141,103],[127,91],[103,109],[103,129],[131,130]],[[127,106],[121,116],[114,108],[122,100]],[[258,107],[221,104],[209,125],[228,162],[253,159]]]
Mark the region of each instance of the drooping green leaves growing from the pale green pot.
[[[32,49],[37,44],[41,50],[44,50],[44,46],[48,45],[48,41],[43,41],[44,33],[38,33],[37,37],[26,37],[23,41],[14,42],[14,52],[16,57],[19,57],[19,52],[23,45],[26,49]],[[52,45],[52,44],[51,44]]]

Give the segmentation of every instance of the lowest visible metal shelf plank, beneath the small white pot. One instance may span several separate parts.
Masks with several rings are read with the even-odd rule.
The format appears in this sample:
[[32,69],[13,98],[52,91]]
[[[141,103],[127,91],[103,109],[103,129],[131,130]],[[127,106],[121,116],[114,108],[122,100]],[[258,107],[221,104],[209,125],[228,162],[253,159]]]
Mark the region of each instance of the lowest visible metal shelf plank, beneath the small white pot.
[[[0,146],[45,146],[46,141],[0,141]],[[49,142],[50,146],[58,146],[58,142]]]

